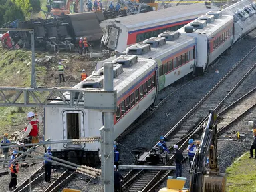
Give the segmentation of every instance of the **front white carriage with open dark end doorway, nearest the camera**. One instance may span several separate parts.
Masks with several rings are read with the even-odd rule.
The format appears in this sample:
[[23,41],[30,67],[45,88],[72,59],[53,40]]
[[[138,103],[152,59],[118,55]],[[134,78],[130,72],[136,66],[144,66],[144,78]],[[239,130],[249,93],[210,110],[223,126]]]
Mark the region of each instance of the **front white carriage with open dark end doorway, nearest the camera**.
[[[113,75],[114,89],[117,90],[118,111],[114,115],[114,138],[118,137],[156,97],[157,63],[152,59],[136,55],[120,56],[115,59]],[[103,68],[96,71],[78,87],[103,87]],[[62,101],[52,101],[62,102]],[[45,138],[52,140],[78,139],[100,135],[103,114],[91,109],[45,108]],[[79,160],[79,163],[94,165],[99,160],[100,143],[74,145],[52,144],[53,155],[62,159]]]

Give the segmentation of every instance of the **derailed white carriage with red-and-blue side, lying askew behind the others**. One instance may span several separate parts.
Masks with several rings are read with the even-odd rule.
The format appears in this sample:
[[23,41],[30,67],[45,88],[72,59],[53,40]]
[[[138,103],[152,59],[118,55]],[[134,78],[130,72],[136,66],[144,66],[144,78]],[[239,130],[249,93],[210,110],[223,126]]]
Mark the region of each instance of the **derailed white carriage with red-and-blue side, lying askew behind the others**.
[[104,33],[102,43],[108,49],[116,49],[121,53],[126,47],[157,37],[164,31],[176,31],[211,10],[219,8],[198,3],[108,19],[100,23]]

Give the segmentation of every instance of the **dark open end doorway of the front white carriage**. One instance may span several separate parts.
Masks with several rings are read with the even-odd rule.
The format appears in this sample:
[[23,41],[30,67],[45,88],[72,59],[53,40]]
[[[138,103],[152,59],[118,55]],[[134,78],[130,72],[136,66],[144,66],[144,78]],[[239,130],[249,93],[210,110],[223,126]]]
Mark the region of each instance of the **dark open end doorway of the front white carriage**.
[[[83,111],[64,111],[63,139],[79,139],[85,137]],[[85,144],[63,143],[63,147],[82,149]]]

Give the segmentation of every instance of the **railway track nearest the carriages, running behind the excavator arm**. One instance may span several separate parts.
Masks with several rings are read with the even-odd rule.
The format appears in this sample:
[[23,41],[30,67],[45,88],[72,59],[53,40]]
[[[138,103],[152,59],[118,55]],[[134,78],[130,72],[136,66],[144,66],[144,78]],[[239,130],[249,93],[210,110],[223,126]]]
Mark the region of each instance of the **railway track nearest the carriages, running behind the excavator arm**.
[[[178,146],[181,146],[181,150],[184,151],[185,146],[187,147],[187,141],[193,135],[195,130],[199,129],[199,127],[202,127],[203,122],[205,121],[206,117],[205,114],[208,114],[209,109],[215,109],[218,111],[220,107],[223,105],[223,103],[226,101],[226,99],[241,85],[241,83],[247,78],[247,76],[255,69],[256,63],[247,71],[242,71],[241,63],[248,57],[248,55],[254,51],[256,48],[253,47],[245,57],[243,57],[234,67],[191,109],[170,131],[165,135],[166,138],[166,144],[167,147],[170,149],[170,151],[173,151],[174,144],[178,144]],[[240,70],[239,70],[240,69]],[[243,69],[243,68],[242,68]],[[236,73],[239,72],[239,75],[243,75],[243,77],[239,80]],[[242,74],[243,73],[243,74]],[[240,76],[241,77],[241,76]],[[229,91],[227,95],[225,95],[225,91]],[[223,93],[224,92],[224,93]],[[184,157],[187,155],[184,154]],[[172,165],[174,163],[174,155],[172,154],[172,157],[168,161],[168,165]],[[158,171],[156,175],[151,179],[150,182],[144,178],[150,178],[152,175],[152,171],[146,171],[142,170],[138,173],[134,173],[134,170],[130,171],[125,176],[125,181],[122,185],[123,191],[153,191],[153,189],[156,187],[156,183],[159,181],[162,181],[162,179],[166,178],[166,175],[168,175],[170,171]],[[136,186],[136,187],[134,187]]]

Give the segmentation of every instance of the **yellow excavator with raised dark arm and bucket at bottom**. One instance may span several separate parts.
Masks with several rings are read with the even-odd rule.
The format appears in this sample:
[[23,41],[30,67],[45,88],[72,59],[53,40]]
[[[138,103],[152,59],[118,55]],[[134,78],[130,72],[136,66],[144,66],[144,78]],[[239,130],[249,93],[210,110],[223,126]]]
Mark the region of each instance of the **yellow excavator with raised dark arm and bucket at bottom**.
[[[205,164],[209,157],[209,169]],[[226,177],[219,173],[217,160],[217,120],[214,110],[203,125],[203,135],[190,169],[190,187],[184,189],[186,178],[168,177],[167,187],[159,192],[225,192]]]

